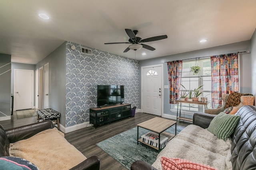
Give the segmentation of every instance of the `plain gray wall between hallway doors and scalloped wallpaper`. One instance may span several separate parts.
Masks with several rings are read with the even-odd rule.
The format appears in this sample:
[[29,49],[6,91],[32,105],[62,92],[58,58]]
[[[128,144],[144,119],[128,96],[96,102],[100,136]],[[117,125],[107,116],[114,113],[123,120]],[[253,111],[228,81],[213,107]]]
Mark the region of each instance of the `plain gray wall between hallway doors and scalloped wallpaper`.
[[49,107],[60,112],[60,124],[65,127],[66,113],[66,42],[42,61],[36,69],[49,63]]

